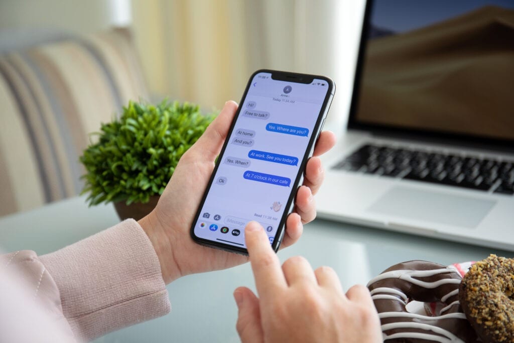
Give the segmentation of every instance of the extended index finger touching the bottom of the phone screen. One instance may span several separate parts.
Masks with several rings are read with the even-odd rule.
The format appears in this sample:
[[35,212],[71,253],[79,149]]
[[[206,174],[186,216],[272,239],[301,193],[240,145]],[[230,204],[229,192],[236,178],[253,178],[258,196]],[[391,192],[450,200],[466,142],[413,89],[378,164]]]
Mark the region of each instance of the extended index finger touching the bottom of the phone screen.
[[259,297],[267,299],[278,289],[286,288],[287,282],[279,258],[271,248],[261,224],[249,222],[246,225],[245,242]]

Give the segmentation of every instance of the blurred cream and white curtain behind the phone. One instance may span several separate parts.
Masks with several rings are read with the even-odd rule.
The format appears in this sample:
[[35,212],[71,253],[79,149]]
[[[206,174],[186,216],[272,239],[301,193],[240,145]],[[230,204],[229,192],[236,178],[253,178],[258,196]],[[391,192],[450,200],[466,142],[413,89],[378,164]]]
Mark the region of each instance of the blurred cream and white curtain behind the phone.
[[337,84],[327,123],[345,120],[363,0],[133,0],[133,28],[151,91],[204,109],[239,101],[268,68]]

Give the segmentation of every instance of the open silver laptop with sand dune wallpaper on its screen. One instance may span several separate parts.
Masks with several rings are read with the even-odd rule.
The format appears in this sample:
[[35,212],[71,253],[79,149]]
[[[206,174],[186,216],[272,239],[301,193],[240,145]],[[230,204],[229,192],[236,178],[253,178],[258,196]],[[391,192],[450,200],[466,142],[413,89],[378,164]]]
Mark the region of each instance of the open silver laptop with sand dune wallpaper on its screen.
[[514,2],[366,4],[318,217],[514,251]]

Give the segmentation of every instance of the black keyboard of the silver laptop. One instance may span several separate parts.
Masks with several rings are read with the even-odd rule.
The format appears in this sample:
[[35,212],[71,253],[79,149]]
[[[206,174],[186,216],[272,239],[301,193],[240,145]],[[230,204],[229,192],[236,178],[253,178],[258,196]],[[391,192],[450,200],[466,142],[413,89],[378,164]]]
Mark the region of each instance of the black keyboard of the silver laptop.
[[333,168],[493,193],[514,194],[514,161],[365,145]]

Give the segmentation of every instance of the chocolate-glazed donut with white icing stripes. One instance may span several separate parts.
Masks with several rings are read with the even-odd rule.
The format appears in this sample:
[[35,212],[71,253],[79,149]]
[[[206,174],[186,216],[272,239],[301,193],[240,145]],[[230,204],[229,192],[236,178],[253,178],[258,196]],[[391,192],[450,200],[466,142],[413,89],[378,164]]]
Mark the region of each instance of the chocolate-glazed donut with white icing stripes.
[[[384,342],[434,343],[475,342],[458,301],[461,276],[454,268],[426,261],[396,264],[368,283],[380,317]],[[410,313],[411,300],[440,301],[437,316]]]

